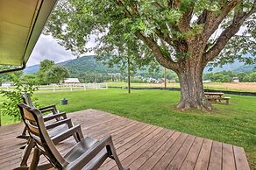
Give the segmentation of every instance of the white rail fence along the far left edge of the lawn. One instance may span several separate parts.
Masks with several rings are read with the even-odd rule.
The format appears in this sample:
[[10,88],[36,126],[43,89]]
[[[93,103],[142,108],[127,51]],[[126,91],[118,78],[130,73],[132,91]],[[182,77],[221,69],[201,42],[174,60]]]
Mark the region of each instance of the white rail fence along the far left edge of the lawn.
[[[14,87],[0,87],[0,89],[12,91]],[[79,83],[79,84],[51,84],[51,85],[41,85],[37,92],[47,92],[47,91],[73,91],[73,90],[86,90],[86,89],[108,89],[107,83]]]

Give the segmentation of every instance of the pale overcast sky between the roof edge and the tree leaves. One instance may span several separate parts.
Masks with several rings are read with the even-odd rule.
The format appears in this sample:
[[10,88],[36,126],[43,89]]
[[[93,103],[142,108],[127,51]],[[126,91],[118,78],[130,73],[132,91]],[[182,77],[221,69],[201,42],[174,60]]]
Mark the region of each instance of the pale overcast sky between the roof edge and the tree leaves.
[[[89,46],[93,42],[89,42]],[[86,55],[93,53],[85,53]],[[51,36],[41,35],[36,46],[32,51],[32,55],[27,62],[27,66],[32,66],[39,64],[41,60],[49,59],[53,60],[55,63],[75,59],[70,51],[66,50],[65,47],[60,46],[55,39]]]

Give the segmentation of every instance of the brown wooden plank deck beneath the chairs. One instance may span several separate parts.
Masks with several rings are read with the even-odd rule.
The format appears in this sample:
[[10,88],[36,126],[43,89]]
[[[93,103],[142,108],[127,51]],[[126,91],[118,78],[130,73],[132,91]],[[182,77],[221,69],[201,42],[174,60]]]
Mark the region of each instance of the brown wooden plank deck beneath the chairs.
[[[83,110],[68,114],[75,124],[82,125],[84,134],[103,138],[109,133],[114,139],[119,159],[125,167],[133,169],[250,169],[243,148],[199,138],[179,131],[167,130],[99,110]],[[0,127],[0,169],[10,170],[20,162],[25,140],[15,138],[23,124]],[[75,144],[68,138],[58,145],[67,152]],[[42,160],[44,161],[44,160]],[[107,159],[101,169],[117,169]]]

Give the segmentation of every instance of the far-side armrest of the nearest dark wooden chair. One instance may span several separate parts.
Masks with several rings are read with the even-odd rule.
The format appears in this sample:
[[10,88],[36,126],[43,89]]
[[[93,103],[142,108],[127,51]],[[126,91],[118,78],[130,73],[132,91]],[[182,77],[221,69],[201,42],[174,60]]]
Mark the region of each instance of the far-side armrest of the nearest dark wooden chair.
[[67,131],[63,131],[60,134],[54,136],[51,138],[53,140],[53,144],[58,144],[60,141],[65,140],[66,138],[69,138],[71,136],[77,135],[78,138],[82,139],[82,129],[80,125],[75,125],[71,128],[69,128]]

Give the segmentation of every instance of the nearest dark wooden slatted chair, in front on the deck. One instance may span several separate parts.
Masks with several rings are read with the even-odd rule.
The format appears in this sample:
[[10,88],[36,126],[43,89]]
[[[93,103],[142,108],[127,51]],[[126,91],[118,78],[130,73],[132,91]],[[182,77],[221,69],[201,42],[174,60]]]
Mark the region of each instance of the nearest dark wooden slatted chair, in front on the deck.
[[[124,170],[117,157],[111,136],[96,140],[89,137],[81,138],[79,135],[81,142],[62,156],[46,131],[41,112],[25,104],[19,104],[18,107],[28,133],[36,145],[30,169],[42,167],[38,166],[39,157],[44,155],[51,165],[57,169],[97,169],[105,159],[110,158],[116,161],[120,170]],[[46,165],[43,165],[43,167],[46,168]]]

